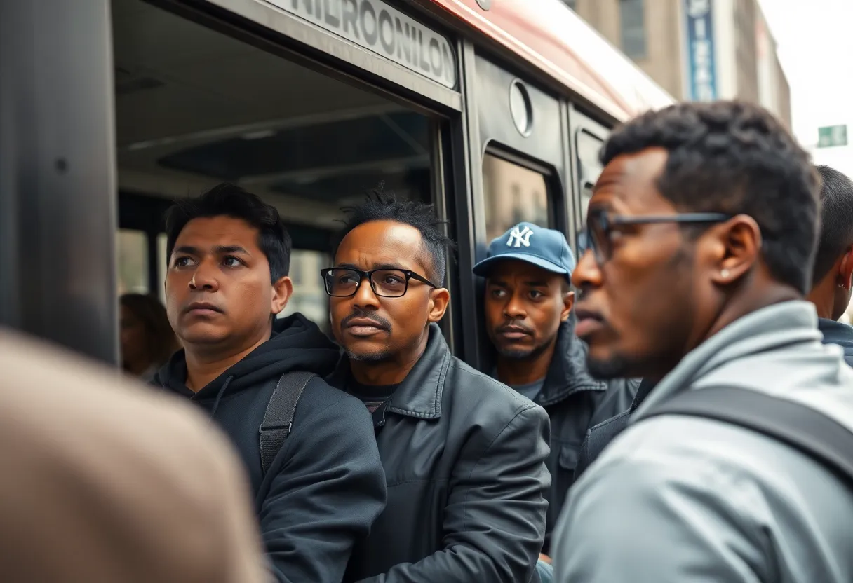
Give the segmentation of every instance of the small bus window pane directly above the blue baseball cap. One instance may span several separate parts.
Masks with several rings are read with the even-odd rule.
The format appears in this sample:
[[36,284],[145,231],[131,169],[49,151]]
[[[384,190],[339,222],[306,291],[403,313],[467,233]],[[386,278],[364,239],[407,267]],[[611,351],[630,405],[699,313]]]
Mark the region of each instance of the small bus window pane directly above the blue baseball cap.
[[487,241],[522,221],[553,227],[548,220],[548,184],[535,170],[486,153],[483,197]]

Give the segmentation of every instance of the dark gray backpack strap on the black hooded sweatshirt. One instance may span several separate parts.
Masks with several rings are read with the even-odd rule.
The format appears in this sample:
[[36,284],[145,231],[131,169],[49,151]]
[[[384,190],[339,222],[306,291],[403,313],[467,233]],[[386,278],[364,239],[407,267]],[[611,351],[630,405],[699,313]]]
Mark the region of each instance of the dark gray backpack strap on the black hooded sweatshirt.
[[284,445],[284,440],[290,434],[293,426],[293,415],[302,391],[316,377],[313,372],[285,372],[272,391],[270,402],[264,412],[264,421],[260,426],[261,434],[261,469],[264,475],[270,470],[270,465]]

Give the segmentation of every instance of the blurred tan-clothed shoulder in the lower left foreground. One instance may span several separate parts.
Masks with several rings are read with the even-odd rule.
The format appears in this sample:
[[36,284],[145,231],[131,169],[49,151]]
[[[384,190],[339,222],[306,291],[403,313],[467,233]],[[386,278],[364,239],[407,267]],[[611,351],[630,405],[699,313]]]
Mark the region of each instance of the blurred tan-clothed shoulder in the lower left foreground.
[[0,367],[4,581],[266,581],[240,463],[197,411],[16,332]]

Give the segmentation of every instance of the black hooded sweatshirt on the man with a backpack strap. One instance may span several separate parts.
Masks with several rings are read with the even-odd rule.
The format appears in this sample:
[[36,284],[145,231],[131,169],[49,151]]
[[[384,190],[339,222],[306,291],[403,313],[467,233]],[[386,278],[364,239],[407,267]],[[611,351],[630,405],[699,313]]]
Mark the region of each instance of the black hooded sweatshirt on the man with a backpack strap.
[[[278,581],[339,583],[352,546],[385,507],[370,415],[362,401],[322,379],[338,358],[316,324],[294,314],[276,320],[270,340],[197,393],[186,386],[183,350],[154,379],[205,409],[235,443]],[[264,475],[258,430],[278,379],[291,371],[318,376],[305,387],[293,428]]]

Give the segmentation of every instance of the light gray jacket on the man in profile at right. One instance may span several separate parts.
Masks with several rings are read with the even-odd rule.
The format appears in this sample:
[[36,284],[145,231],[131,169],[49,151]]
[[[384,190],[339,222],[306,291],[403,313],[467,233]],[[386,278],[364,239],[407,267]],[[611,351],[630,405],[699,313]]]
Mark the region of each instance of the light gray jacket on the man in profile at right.
[[850,583],[853,492],[789,447],[711,419],[638,423],[681,390],[758,390],[853,430],[853,369],[810,303],[758,310],[685,356],[575,484],[555,581]]

